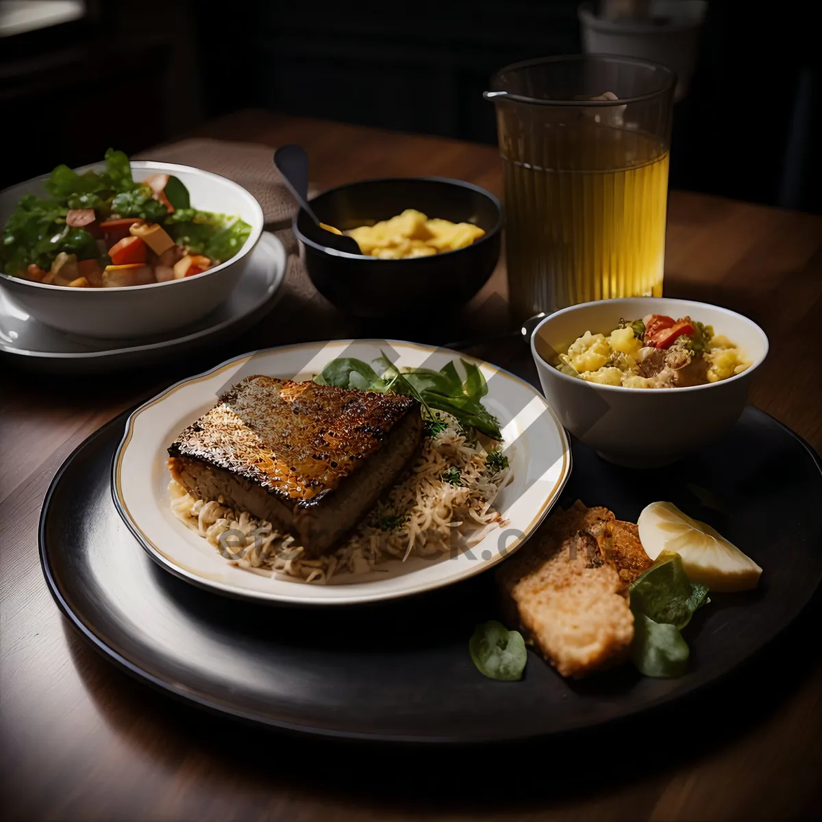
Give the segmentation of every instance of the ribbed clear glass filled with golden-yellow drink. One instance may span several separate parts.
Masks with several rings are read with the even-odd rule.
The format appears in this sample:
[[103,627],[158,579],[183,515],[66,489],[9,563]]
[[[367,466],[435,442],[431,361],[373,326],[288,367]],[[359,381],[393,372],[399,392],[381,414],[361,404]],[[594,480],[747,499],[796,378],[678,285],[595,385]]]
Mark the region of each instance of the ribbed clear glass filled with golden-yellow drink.
[[501,69],[510,303],[518,319],[663,289],[670,69],[634,58],[543,58]]

